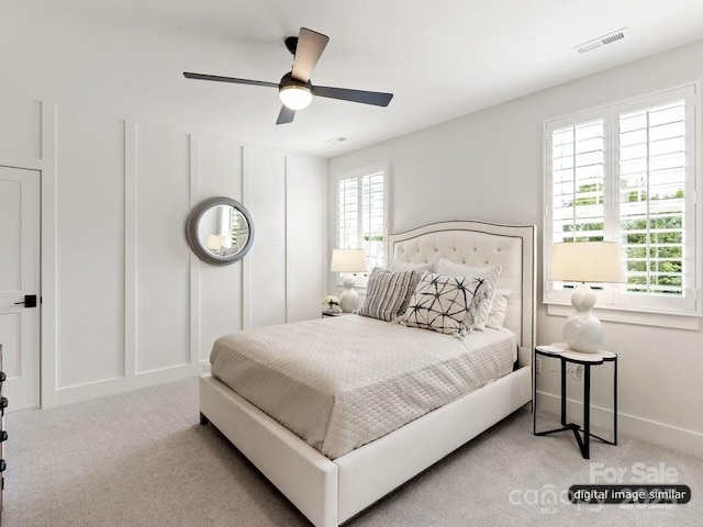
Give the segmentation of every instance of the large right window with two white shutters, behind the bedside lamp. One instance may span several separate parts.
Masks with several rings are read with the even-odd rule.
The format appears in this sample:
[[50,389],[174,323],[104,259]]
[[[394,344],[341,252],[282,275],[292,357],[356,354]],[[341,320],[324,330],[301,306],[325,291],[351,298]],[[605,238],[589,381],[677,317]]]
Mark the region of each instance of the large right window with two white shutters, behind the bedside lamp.
[[616,240],[627,282],[599,306],[696,312],[694,86],[547,122],[545,169],[545,267],[554,243]]

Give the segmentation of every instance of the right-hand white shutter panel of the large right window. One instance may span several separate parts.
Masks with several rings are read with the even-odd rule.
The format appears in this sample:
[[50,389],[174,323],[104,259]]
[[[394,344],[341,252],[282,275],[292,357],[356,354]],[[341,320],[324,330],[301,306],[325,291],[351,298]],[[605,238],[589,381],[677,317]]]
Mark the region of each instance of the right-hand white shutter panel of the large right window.
[[620,115],[621,237],[629,292],[683,292],[685,145],[683,100]]

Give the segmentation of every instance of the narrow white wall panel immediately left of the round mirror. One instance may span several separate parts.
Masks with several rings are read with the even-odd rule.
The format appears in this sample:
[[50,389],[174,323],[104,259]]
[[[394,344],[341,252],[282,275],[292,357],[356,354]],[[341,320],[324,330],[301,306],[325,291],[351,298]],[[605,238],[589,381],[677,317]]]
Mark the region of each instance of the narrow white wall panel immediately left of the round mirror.
[[[183,211],[190,205],[190,137],[137,124],[135,159],[133,243],[138,374],[190,362],[190,261],[188,246],[182,242]],[[60,170],[58,173],[60,178]]]

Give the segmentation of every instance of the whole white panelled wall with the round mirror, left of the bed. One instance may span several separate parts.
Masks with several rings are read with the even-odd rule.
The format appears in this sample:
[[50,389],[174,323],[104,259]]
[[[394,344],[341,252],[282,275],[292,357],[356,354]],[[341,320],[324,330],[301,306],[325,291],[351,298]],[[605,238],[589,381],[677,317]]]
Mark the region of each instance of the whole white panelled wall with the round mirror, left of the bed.
[[[42,171],[44,406],[193,375],[220,335],[320,316],[324,159],[3,94],[0,165]],[[186,242],[213,195],[254,221],[231,266]]]

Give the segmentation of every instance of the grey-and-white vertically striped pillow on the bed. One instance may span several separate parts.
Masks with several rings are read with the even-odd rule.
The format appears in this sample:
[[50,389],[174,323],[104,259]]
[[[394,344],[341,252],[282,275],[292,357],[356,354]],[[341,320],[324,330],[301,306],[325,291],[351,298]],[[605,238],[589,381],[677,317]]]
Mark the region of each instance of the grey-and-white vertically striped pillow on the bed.
[[392,322],[405,313],[422,276],[423,271],[416,270],[391,272],[373,268],[366,285],[366,299],[357,313]]

